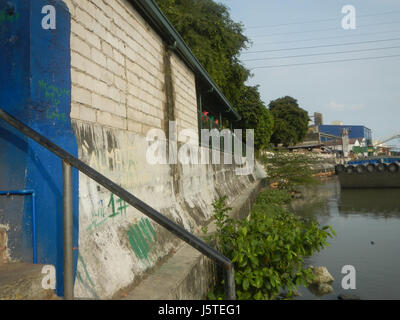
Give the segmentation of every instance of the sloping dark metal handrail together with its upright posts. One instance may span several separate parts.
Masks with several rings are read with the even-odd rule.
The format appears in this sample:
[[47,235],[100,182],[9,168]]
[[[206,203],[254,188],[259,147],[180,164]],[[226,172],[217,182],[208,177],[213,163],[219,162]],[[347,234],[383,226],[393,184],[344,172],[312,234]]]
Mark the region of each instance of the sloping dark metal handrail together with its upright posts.
[[[122,200],[129,203],[131,206],[154,220],[168,231],[172,232],[181,240],[185,241],[191,247],[197,249],[205,256],[214,260],[217,264],[223,267],[225,270],[225,297],[227,300],[235,300],[235,279],[234,279],[234,267],[231,260],[216,251],[214,248],[207,245],[203,240],[197,238],[184,228],[171,221],[160,212],[150,207],[145,202],[141,201],[133,194],[129,193],[119,185],[111,181],[110,179],[103,176],[92,167],[88,166],[72,154],[62,149],[52,141],[48,140],[29,126],[16,119],[8,112],[0,108],[0,119],[13,126],[24,135],[28,136],[32,140],[36,141],[50,152],[58,156],[63,162],[63,208],[64,208],[64,297],[67,299],[73,298],[73,278],[72,278],[72,170],[74,167],[92,178],[94,181],[108,189]],[[68,245],[68,247],[67,247]]]

